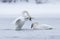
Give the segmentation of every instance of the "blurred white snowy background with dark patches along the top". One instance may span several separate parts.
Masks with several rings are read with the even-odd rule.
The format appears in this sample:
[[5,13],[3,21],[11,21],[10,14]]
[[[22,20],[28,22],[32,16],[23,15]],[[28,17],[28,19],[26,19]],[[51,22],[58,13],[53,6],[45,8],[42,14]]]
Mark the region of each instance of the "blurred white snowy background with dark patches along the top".
[[0,17],[20,16],[25,10],[39,18],[59,18],[60,0],[0,0]]

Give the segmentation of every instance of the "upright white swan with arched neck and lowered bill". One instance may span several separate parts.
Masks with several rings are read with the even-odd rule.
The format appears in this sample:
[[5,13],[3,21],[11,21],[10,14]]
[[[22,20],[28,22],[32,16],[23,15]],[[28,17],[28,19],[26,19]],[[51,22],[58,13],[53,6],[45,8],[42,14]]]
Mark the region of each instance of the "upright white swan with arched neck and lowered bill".
[[24,11],[22,13],[22,16],[18,17],[17,19],[15,19],[14,24],[16,26],[15,30],[21,30],[23,25],[25,24],[25,21],[27,20],[32,20],[32,17],[29,15],[29,13],[27,11]]

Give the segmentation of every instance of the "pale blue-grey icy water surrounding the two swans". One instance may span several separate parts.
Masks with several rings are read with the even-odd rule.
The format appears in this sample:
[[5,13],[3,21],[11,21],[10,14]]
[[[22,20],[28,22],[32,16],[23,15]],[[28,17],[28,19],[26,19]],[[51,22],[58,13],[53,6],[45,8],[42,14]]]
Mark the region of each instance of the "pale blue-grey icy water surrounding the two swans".
[[32,30],[31,22],[27,22],[20,31],[14,30],[12,21],[14,18],[0,18],[0,40],[60,40],[60,18],[38,18],[42,24],[54,27],[53,30]]

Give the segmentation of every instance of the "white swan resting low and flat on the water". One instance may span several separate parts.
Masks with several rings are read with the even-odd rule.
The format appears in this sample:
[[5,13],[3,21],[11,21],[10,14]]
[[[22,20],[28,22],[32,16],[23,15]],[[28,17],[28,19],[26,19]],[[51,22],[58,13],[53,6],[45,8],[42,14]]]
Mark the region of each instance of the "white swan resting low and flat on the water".
[[41,30],[51,30],[53,29],[52,26],[47,25],[47,24],[40,24],[38,22],[34,22],[31,25],[32,29],[41,29]]

